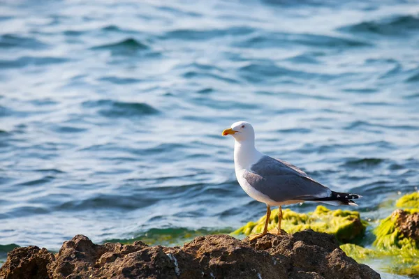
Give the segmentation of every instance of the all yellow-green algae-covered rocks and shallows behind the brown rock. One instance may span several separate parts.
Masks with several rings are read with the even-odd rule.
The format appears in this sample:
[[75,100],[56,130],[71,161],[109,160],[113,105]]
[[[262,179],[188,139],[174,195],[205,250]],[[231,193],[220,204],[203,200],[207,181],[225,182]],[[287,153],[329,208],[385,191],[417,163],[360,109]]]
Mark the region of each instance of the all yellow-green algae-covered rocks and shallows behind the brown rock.
[[[382,262],[379,271],[416,278],[419,274],[419,193],[404,195],[390,206],[393,209],[390,216],[371,223],[362,220],[357,211],[330,210],[325,206],[317,206],[308,213],[285,209],[282,227],[288,233],[313,229],[333,234],[346,255],[358,262]],[[262,231],[264,224],[265,217],[262,217],[240,227],[233,235],[256,234]],[[277,224],[277,211],[272,211],[268,228]]]

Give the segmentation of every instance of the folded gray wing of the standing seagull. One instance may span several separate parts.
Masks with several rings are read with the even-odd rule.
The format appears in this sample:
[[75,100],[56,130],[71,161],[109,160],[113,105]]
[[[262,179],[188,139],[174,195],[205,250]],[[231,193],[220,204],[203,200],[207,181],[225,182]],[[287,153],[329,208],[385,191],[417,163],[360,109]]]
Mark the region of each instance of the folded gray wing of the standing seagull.
[[311,179],[290,163],[263,156],[244,172],[244,179],[275,202],[314,200],[329,197],[331,190]]

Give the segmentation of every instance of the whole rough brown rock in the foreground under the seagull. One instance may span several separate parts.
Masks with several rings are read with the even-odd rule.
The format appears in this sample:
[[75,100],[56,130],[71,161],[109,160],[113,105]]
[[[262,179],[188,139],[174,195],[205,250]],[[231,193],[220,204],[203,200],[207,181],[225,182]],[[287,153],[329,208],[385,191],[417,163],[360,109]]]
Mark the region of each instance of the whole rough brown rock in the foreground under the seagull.
[[0,278],[380,278],[340,250],[335,236],[307,230],[240,241],[198,236],[183,247],[105,243],[86,236],[66,241],[56,255],[15,248]]

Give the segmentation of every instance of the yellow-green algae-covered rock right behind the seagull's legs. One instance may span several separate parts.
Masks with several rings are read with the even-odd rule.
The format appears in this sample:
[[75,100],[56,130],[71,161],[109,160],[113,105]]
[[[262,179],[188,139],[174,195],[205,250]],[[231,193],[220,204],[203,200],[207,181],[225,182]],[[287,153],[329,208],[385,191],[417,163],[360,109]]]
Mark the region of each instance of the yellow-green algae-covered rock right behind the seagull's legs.
[[[264,224],[265,217],[262,217],[258,222],[249,222],[232,234],[257,234],[263,231]],[[270,216],[268,229],[272,229],[277,225],[278,209],[274,209]],[[300,232],[304,229],[313,229],[315,232],[334,234],[340,242],[346,243],[362,235],[365,232],[366,225],[367,223],[361,220],[360,213],[357,211],[330,210],[325,206],[317,206],[316,210],[311,213],[297,213],[291,211],[291,209],[285,209],[283,211],[281,229],[284,229],[289,234]]]

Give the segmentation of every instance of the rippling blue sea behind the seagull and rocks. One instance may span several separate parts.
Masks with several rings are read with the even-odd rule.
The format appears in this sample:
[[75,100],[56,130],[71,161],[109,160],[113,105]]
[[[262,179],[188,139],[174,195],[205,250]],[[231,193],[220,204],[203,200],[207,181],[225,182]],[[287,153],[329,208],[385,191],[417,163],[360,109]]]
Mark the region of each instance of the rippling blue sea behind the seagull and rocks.
[[418,1],[1,1],[0,262],[263,216],[221,137],[240,120],[388,216],[419,186]]

